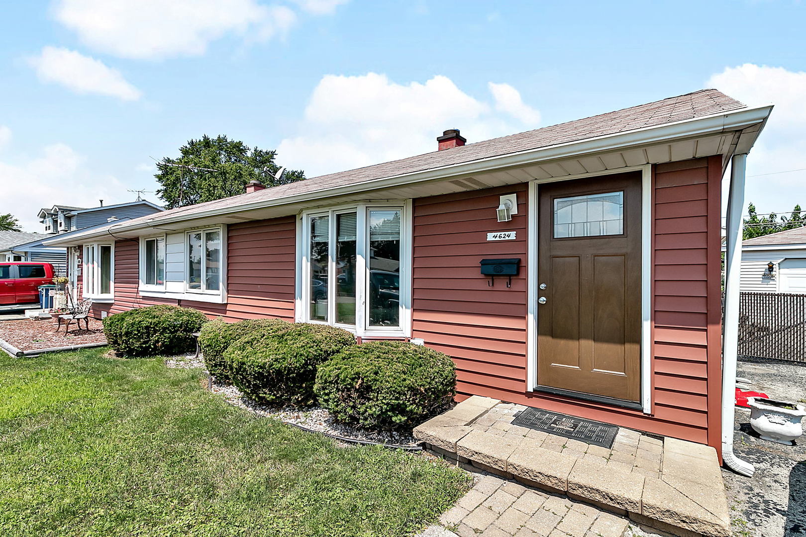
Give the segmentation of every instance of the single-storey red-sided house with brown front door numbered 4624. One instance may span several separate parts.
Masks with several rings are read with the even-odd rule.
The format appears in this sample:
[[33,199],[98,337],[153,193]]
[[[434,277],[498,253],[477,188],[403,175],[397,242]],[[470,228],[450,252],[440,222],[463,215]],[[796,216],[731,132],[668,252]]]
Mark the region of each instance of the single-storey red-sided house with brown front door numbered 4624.
[[95,316],[178,304],[413,341],[453,357],[459,399],[691,440],[742,465],[739,223],[770,112],[705,89],[475,143],[446,130],[431,153],[51,243],[81,255]]

